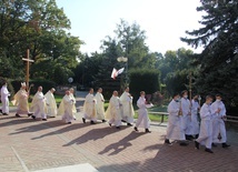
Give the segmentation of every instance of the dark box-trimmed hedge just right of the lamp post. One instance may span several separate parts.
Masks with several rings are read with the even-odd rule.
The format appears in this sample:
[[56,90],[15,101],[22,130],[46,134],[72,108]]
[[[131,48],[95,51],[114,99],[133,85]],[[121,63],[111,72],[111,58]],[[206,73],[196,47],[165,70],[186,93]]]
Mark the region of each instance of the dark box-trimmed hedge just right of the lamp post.
[[137,100],[140,97],[140,91],[147,94],[160,90],[160,72],[150,69],[133,69],[130,70],[130,92]]

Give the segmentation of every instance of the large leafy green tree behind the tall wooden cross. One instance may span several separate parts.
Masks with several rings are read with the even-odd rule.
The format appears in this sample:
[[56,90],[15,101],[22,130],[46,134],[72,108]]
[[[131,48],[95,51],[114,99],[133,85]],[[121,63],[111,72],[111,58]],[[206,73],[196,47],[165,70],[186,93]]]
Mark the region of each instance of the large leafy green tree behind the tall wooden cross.
[[34,60],[32,78],[54,80],[51,69],[59,64],[63,65],[63,73],[72,73],[83,42],[66,32],[70,21],[56,0],[0,1],[0,64],[4,64],[1,75],[23,77],[21,58],[26,57],[27,49]]

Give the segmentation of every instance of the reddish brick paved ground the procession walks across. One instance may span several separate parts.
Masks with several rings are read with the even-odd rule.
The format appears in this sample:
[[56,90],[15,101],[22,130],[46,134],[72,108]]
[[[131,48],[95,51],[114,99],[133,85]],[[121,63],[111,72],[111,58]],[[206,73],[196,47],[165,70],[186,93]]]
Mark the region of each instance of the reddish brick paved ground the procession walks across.
[[[78,117],[80,118],[80,117]],[[90,163],[100,172],[237,172],[238,132],[228,130],[232,145],[194,149],[163,144],[166,127],[152,124],[152,133],[132,128],[121,130],[107,123],[90,125],[77,120],[63,124],[60,118],[34,121],[30,118],[0,117],[0,172],[26,172],[71,164]]]

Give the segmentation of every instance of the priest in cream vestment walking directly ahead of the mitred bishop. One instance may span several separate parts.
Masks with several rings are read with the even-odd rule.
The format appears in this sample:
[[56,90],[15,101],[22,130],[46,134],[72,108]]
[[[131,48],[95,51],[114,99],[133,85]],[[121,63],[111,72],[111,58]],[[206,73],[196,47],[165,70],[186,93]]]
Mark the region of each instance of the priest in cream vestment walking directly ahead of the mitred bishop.
[[37,93],[33,97],[31,102],[31,110],[33,114],[31,117],[32,119],[41,119],[42,121],[47,121],[46,98],[42,93],[42,87],[39,87]]

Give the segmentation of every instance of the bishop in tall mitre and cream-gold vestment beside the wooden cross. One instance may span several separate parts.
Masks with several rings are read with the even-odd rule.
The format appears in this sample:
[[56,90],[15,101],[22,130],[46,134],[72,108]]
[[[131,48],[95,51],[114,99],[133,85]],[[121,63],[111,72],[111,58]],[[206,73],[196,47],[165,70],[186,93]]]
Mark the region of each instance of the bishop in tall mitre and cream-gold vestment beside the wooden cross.
[[26,82],[21,83],[21,89],[14,94],[12,104],[17,105],[16,117],[20,118],[20,114],[28,114],[30,117],[32,113],[29,112],[28,98],[29,92],[26,91]]

